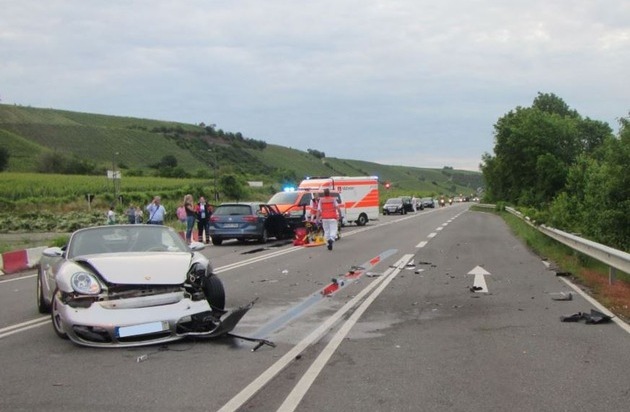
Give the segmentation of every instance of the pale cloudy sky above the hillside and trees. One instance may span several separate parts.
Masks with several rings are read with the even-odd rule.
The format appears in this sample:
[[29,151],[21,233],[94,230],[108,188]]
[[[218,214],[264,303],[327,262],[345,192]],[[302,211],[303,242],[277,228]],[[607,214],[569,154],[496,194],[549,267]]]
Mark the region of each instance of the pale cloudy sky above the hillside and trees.
[[0,102],[479,170],[538,93],[630,112],[628,0],[0,0]]

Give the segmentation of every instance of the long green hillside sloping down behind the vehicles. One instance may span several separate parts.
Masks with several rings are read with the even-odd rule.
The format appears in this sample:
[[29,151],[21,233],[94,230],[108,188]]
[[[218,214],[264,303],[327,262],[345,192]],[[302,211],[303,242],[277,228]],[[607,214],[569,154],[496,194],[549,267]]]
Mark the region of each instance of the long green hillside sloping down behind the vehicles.
[[172,155],[191,176],[236,173],[270,190],[304,176],[331,175],[376,175],[391,182],[392,193],[419,195],[471,193],[482,186],[477,172],[318,158],[205,125],[55,109],[0,104],[0,139],[9,151],[9,172],[35,172],[43,154],[56,152],[104,170],[115,163],[123,175],[151,176],[152,166]]

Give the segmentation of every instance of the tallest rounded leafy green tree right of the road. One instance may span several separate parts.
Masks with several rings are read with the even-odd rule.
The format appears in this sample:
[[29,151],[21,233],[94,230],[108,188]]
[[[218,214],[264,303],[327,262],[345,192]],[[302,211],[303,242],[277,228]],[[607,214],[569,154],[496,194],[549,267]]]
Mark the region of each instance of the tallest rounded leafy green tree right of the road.
[[484,154],[481,165],[488,200],[537,208],[563,190],[582,153],[610,136],[607,124],[583,120],[559,97],[542,93],[531,107],[499,118],[494,130],[494,155]]

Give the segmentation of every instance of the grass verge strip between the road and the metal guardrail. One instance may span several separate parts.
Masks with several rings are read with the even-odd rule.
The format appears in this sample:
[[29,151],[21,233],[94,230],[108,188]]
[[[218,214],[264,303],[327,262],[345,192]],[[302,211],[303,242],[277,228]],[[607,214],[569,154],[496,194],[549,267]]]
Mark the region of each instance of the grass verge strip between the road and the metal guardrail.
[[487,208],[473,208],[479,212],[501,216],[512,232],[542,259],[553,262],[557,272],[570,273],[571,281],[595,298],[612,313],[630,323],[630,275],[617,271],[614,281],[609,279],[608,266],[559,243],[518,217]]

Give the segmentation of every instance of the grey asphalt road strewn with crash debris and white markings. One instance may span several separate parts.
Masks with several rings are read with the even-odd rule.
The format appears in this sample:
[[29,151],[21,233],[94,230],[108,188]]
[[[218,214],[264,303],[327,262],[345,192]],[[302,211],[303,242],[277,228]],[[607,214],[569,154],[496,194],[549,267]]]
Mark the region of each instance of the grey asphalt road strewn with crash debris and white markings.
[[[593,304],[500,218],[467,209],[345,228],[332,252],[208,247],[228,307],[258,299],[234,331],[276,345],[255,351],[229,337],[77,347],[37,313],[35,278],[8,276],[0,410],[626,411],[627,329],[560,322]],[[332,278],[345,283],[323,296]]]

